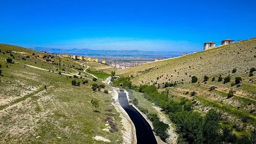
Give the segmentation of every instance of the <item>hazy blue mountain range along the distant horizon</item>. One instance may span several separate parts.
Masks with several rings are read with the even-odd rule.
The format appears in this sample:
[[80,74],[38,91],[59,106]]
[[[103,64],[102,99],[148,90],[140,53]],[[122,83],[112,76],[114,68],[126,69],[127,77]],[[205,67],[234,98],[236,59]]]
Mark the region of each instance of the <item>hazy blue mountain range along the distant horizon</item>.
[[162,57],[170,58],[181,56],[185,52],[146,52],[138,50],[93,50],[93,49],[60,49],[60,48],[33,48],[37,51],[47,51],[52,53],[68,53],[84,56],[112,56],[112,57]]

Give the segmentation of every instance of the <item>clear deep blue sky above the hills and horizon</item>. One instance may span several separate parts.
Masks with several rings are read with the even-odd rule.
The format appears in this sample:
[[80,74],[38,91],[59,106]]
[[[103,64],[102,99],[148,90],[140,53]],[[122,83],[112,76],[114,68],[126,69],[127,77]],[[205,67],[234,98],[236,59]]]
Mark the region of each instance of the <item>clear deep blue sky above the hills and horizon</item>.
[[24,47],[191,52],[256,36],[255,0],[1,0],[0,8],[0,43]]

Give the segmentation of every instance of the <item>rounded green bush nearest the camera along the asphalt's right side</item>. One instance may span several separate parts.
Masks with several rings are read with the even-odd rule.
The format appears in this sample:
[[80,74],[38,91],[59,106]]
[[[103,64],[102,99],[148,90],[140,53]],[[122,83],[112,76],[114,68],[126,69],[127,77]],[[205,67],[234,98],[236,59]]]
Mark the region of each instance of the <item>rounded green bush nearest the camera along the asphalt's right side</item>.
[[167,130],[170,128],[170,126],[161,121],[154,121],[153,127],[153,131],[155,132],[155,134],[159,136],[161,140],[166,141],[166,139],[169,137],[169,135],[167,134]]

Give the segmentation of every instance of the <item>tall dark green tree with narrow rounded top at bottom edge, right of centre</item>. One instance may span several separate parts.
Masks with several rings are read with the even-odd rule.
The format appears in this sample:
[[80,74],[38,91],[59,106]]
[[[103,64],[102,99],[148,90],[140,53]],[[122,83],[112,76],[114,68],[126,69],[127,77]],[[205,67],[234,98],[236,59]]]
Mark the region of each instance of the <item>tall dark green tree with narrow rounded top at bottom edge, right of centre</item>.
[[214,109],[210,109],[206,114],[203,124],[205,144],[219,144],[221,142],[220,120],[221,114]]

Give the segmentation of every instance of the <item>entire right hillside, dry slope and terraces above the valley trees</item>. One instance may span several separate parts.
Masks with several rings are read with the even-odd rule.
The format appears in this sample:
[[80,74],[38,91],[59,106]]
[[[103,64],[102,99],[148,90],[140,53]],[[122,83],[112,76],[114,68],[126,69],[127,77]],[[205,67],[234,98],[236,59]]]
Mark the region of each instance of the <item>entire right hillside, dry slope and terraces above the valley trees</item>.
[[[168,92],[171,100],[186,97],[192,101],[194,111],[202,114],[218,109],[222,125],[234,128],[239,136],[247,134],[256,122],[254,67],[256,38],[123,69],[117,74],[130,76],[133,85],[155,85],[158,91]],[[193,76],[198,78],[194,83]]]

